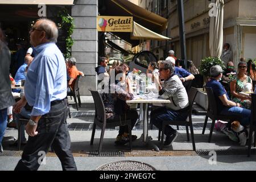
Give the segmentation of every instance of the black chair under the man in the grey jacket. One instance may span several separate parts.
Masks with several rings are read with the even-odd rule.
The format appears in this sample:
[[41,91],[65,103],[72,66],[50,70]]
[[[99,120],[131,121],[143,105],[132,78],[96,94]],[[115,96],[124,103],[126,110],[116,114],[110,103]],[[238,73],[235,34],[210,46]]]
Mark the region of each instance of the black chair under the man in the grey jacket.
[[198,90],[194,87],[191,87],[188,93],[188,101],[189,101],[189,110],[188,110],[188,120],[186,119],[185,121],[163,121],[162,123],[162,130],[159,129],[159,134],[158,134],[158,140],[160,140],[160,135],[162,131],[162,136],[161,136],[161,142],[160,142],[160,150],[163,148],[163,139],[164,139],[164,130],[167,125],[176,125],[176,126],[185,126],[186,131],[187,131],[187,139],[189,141],[189,131],[188,131],[188,126],[190,127],[191,131],[191,138],[192,138],[192,146],[193,150],[196,150],[196,144],[195,144],[195,138],[194,138],[194,132],[193,132],[193,125],[192,125],[192,107],[193,103],[196,98]]

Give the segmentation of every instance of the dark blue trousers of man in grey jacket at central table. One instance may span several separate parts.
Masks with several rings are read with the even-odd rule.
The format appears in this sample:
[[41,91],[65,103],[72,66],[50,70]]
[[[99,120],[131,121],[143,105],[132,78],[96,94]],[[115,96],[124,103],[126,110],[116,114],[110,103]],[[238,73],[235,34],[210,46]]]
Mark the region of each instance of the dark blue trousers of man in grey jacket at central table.
[[[162,129],[163,121],[185,121],[188,117],[188,111],[175,111],[167,109],[166,107],[160,107],[156,110],[151,111],[150,119],[152,123]],[[166,126],[164,134],[170,136],[174,134],[175,130],[170,126]]]

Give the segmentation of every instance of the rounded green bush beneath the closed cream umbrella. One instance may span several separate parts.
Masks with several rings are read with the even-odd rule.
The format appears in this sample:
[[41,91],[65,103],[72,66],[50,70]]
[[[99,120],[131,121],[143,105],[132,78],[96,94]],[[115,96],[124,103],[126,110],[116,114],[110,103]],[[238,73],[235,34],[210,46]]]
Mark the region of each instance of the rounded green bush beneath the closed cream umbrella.
[[218,57],[205,57],[205,59],[201,60],[201,64],[199,67],[199,72],[201,75],[205,77],[210,76],[210,68],[214,65],[220,65],[221,68],[224,70],[225,64],[221,61]]

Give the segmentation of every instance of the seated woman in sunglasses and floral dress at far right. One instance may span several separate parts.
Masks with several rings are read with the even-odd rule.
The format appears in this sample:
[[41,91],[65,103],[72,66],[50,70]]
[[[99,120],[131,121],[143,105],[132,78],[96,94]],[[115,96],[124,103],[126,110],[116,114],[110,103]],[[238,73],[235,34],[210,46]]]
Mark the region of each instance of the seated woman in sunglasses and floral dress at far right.
[[[251,78],[246,75],[246,71],[247,64],[245,62],[240,62],[238,64],[238,73],[230,82],[230,94],[232,101],[240,103],[242,107],[246,109],[250,109],[251,98],[249,96],[239,94],[246,89],[245,87],[253,85]],[[253,92],[252,86],[250,88],[250,92]]]

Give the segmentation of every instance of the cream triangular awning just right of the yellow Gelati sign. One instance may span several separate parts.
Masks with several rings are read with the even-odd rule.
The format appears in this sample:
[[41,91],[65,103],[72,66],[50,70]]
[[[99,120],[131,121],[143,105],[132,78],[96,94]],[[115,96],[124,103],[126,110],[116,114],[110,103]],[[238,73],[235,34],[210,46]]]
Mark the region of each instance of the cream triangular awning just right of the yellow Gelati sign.
[[140,24],[133,22],[133,32],[131,33],[131,39],[136,40],[171,40],[166,36],[157,34],[154,31],[148,30]]

